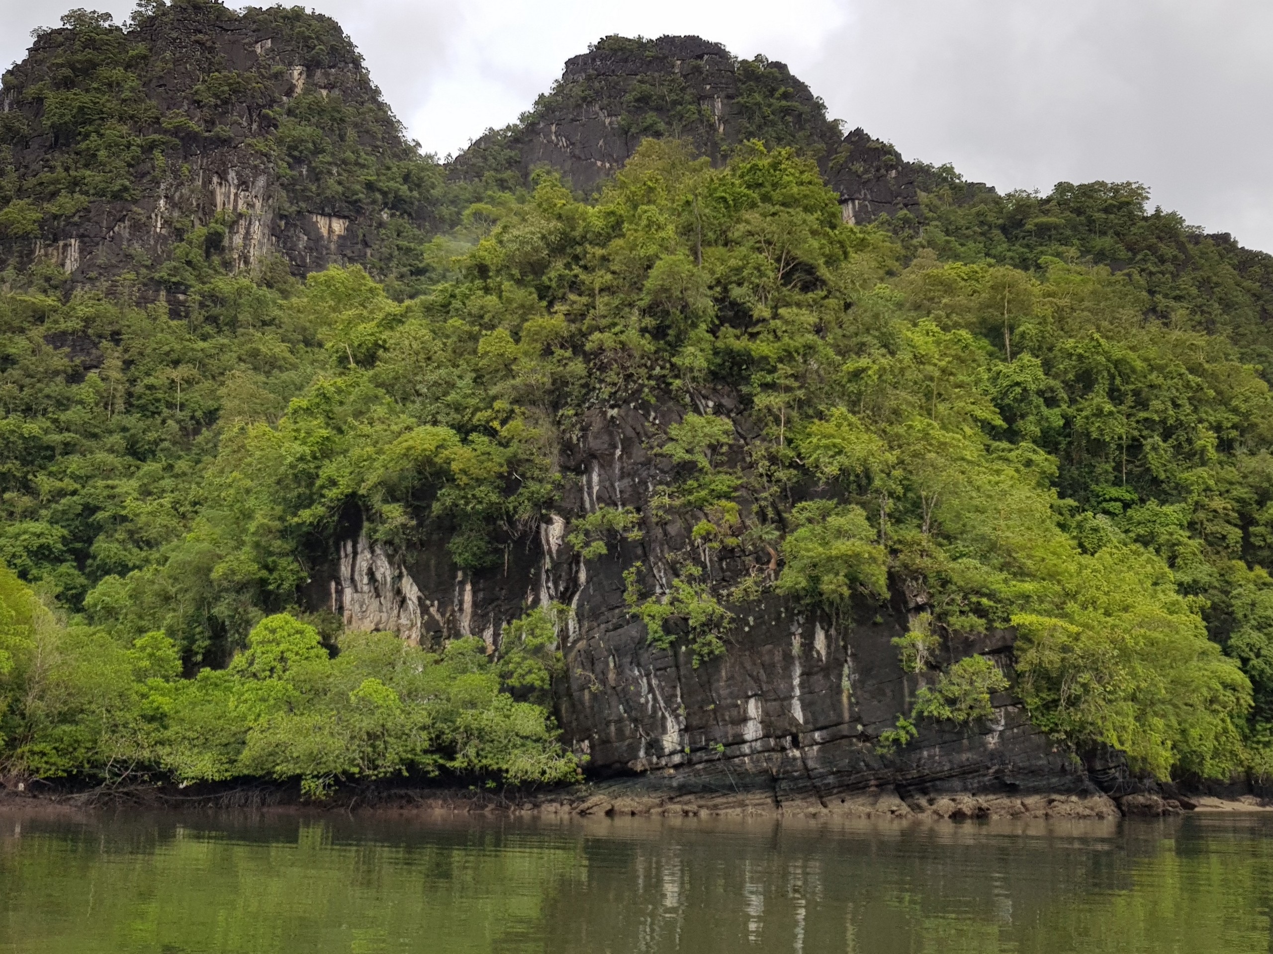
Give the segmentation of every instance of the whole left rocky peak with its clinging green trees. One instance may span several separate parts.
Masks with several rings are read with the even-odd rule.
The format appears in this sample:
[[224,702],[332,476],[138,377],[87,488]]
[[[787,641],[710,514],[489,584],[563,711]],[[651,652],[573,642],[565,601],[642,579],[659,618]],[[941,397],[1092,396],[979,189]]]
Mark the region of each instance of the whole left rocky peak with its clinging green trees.
[[302,8],[73,10],[0,95],[0,268],[65,291],[182,303],[177,245],[257,275],[359,262],[384,280],[463,197],[402,130],[332,19]]

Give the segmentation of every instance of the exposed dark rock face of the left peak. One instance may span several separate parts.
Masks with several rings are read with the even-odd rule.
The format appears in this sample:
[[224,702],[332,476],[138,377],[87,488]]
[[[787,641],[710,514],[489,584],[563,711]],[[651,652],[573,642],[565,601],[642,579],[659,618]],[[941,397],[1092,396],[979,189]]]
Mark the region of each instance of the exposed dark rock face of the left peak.
[[[116,66],[129,112],[112,132],[117,154],[94,163],[84,156],[97,132],[83,117],[73,128],[57,108],[92,103],[103,70]],[[136,282],[191,229],[218,219],[225,234],[214,251],[232,270],[271,256],[297,275],[365,262],[386,204],[342,191],[336,169],[292,162],[278,136],[293,113],[308,121],[337,104],[360,111],[364,126],[345,132],[379,163],[415,156],[358,51],[325,17],[191,3],[127,31],[48,31],[0,93],[0,149],[8,148],[15,198],[45,212],[34,234],[0,229],[0,268],[45,261],[74,285],[109,289],[120,279]],[[103,183],[109,176],[116,181]],[[59,187],[80,207],[51,211]]]

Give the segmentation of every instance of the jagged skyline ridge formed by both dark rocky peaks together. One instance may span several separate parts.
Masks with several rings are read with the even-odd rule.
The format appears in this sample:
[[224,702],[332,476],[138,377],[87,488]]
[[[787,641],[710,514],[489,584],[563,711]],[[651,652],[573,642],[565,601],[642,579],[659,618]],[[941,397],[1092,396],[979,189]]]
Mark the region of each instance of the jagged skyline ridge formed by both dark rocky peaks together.
[[[118,67],[113,85],[103,66]],[[698,37],[601,41],[523,122],[444,169],[405,141],[334,20],[179,3],[126,28],[76,14],[5,74],[0,271],[43,263],[67,291],[179,301],[186,276],[164,265],[205,229],[195,238],[230,271],[356,263],[409,277],[474,188],[524,184],[547,165],[591,192],[652,135],[717,163],[747,139],[794,145],[817,158],[847,221],[922,218],[928,167],[862,130],[841,135],[783,64]]]

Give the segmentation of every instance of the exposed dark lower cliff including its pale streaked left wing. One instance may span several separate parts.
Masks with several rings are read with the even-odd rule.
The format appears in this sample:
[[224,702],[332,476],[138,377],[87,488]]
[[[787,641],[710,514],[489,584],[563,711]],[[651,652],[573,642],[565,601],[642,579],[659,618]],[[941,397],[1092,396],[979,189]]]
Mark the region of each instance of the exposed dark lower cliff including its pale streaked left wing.
[[[713,404],[736,410],[728,394]],[[568,743],[588,757],[589,775],[610,780],[611,798],[707,798],[765,808],[831,806],[853,794],[885,792],[909,810],[905,803],[960,794],[1099,795],[1087,773],[1031,728],[1009,693],[993,698],[994,717],[985,724],[956,730],[924,722],[910,745],[877,753],[881,733],[910,711],[925,678],[904,673],[891,644],[923,607],[923,595],[908,599],[901,588],[890,605],[863,607],[847,619],[774,594],[732,604],[726,653],[696,667],[684,640],[670,650],[652,645],[625,604],[622,574],[642,562],[648,593],[671,579],[676,555],[693,546],[686,518],[661,523],[649,508],[652,490],[675,473],[648,448],[681,413],[672,403],[593,411],[563,450],[570,480],[560,515],[509,539],[503,566],[462,572],[440,539],[395,556],[351,533],[340,557],[316,574],[311,602],[342,614],[349,626],[393,628],[425,645],[475,635],[491,650],[503,625],[527,609],[570,605],[573,618],[560,636],[565,674],[556,686],[558,716]],[[749,422],[733,420],[746,440]],[[565,543],[568,520],[598,506],[640,510],[643,537],[583,561]],[[705,556],[708,574],[722,586],[768,572],[771,560],[728,548]],[[1011,673],[1012,639],[1011,632],[951,636],[945,661],[985,653]],[[1102,805],[1113,810],[1113,803]]]

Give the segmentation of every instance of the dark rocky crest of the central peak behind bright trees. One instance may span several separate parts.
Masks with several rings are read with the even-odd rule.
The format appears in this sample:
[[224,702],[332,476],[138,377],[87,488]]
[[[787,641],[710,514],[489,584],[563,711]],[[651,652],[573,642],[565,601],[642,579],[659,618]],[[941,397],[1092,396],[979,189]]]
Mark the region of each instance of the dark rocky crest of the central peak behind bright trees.
[[817,160],[847,221],[920,218],[927,167],[906,163],[861,128],[844,136],[826,107],[784,64],[737,60],[699,37],[607,37],[566,61],[523,122],[493,131],[452,164],[452,174],[527,181],[537,165],[593,192],[647,136],[687,140],[713,163],[752,139],[796,146]]

